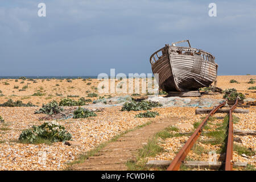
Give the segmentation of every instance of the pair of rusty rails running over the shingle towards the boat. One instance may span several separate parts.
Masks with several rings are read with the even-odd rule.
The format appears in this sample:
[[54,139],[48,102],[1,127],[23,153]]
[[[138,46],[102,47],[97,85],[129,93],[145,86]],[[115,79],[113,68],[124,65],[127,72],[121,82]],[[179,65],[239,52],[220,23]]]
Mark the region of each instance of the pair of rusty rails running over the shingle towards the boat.
[[[207,124],[208,118],[212,116],[218,109],[223,107],[226,104],[226,101],[222,102],[217,107],[214,107],[212,111],[205,117],[203,122],[197,127],[195,132],[191,135],[191,137],[187,140],[187,142],[184,144],[184,146],[181,148],[179,153],[175,156],[174,160],[172,160],[172,163],[167,168],[167,171],[177,171],[180,168],[181,163],[186,158],[189,151],[191,151],[191,148],[196,143],[196,140],[201,135],[204,126]],[[229,109],[229,127],[228,127],[228,141],[227,141],[227,147],[226,147],[226,157],[225,157],[225,171],[232,171],[233,169],[233,117],[232,113],[233,110],[236,108],[238,104],[238,98],[235,102],[235,104]]]

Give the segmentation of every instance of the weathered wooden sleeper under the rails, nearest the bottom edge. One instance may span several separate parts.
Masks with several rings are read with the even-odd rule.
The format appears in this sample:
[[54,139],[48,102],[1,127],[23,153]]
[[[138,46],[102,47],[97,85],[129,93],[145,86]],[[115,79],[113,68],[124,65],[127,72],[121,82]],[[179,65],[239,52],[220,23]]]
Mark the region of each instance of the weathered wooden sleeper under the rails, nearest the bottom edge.
[[[146,163],[147,166],[151,167],[168,167],[172,160],[150,160]],[[209,163],[208,161],[184,161],[184,166],[190,168],[210,168],[218,169],[223,164],[222,162]],[[246,167],[246,162],[234,162],[234,167]]]

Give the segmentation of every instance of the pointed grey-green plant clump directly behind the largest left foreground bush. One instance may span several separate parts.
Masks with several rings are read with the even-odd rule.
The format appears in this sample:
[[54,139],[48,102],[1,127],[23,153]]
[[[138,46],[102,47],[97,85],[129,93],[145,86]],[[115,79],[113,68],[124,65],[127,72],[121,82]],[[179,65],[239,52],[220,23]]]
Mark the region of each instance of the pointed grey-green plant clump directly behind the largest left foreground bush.
[[35,114],[43,113],[52,115],[60,113],[60,111],[63,111],[63,109],[59,106],[59,104],[56,101],[53,100],[46,105],[43,104],[42,108],[35,111]]

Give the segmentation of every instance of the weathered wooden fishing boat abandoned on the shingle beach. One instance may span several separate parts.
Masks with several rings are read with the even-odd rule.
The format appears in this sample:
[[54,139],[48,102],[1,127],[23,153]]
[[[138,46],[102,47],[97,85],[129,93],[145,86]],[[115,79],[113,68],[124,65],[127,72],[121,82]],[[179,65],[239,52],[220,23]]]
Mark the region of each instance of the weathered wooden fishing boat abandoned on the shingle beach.
[[[188,42],[189,47],[176,44]],[[192,48],[189,40],[172,43],[150,57],[155,78],[158,73],[159,88],[166,92],[188,92],[209,86],[216,81],[218,65],[209,52]]]

